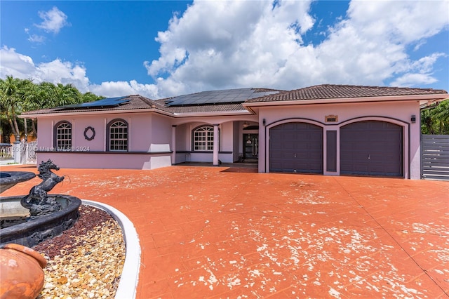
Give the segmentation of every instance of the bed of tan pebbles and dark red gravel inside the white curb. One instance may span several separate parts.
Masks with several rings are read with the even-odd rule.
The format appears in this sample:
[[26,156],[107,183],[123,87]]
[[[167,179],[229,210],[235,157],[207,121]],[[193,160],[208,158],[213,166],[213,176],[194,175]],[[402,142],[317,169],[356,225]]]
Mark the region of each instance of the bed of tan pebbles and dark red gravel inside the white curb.
[[82,205],[60,236],[33,247],[48,260],[43,298],[114,298],[126,247],[120,225],[105,211]]

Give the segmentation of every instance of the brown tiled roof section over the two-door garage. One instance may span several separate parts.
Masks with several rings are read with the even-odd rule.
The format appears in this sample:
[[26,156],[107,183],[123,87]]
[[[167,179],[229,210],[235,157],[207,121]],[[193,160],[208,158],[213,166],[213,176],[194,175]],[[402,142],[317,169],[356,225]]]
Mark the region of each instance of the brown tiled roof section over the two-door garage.
[[293,91],[286,91],[262,98],[254,98],[246,102],[274,102],[288,100],[320,100],[330,98],[369,98],[394,95],[429,95],[442,94],[447,91],[431,88],[401,88],[385,86],[352,86],[323,84]]

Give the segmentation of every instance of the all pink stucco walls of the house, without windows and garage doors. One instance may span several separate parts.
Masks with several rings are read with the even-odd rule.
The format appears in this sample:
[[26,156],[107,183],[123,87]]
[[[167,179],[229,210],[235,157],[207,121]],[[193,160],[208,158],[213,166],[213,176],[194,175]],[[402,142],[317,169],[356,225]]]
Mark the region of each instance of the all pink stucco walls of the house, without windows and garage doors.
[[[232,163],[243,152],[243,133],[259,133],[259,172],[269,169],[269,129],[286,122],[309,122],[326,131],[337,131],[337,172],[340,175],[340,128],[355,121],[388,121],[403,128],[403,175],[419,179],[420,167],[420,106],[417,101],[359,102],[341,104],[311,104],[264,106],[258,115],[217,117],[168,117],[156,113],[87,114],[39,117],[37,161],[53,159],[61,167],[138,168],[153,169],[185,161],[213,162],[213,152],[192,150],[192,130],[201,125],[220,125],[220,153],[218,159]],[[335,115],[329,122],[326,116]],[[416,122],[410,118],[416,116]],[[128,152],[110,153],[107,147],[107,124],[113,119],[128,123]],[[72,145],[79,152],[50,152],[54,145],[54,126],[59,121],[72,124]],[[243,122],[259,126],[257,130],[243,130]],[[173,128],[175,125],[175,128]],[[95,138],[87,140],[84,131],[95,129]],[[175,143],[175,148],[173,147]],[[171,151],[175,151],[172,155]],[[323,138],[323,164],[326,164],[326,138]],[[174,161],[173,161],[174,160]]]

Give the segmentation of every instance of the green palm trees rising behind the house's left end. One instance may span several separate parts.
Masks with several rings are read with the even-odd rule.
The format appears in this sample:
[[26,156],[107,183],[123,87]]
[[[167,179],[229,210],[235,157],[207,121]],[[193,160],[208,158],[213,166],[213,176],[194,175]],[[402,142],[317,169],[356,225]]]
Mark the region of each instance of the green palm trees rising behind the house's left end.
[[101,98],[93,93],[81,93],[72,84],[34,84],[30,79],[12,76],[0,79],[0,142],[9,143],[11,134],[15,136],[15,140],[20,140],[21,135],[28,133],[37,136],[35,119],[24,121],[18,118],[23,112],[92,102]]

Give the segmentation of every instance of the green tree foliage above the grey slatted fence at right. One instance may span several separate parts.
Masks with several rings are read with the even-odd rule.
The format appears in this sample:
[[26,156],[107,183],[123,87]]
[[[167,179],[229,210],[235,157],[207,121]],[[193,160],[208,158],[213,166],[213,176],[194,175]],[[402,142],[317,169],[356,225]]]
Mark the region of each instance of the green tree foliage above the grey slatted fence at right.
[[449,99],[422,109],[421,132],[430,135],[449,135]]

